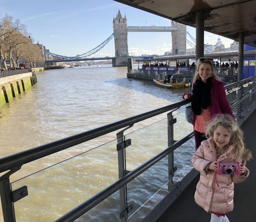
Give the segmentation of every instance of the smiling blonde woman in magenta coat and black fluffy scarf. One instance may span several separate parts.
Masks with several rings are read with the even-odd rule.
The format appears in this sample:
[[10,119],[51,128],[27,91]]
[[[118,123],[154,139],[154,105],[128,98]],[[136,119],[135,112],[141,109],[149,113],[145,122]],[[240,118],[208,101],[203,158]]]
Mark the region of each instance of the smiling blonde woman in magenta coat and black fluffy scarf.
[[196,148],[205,139],[207,123],[215,114],[226,113],[235,116],[229,106],[224,83],[218,80],[214,73],[211,58],[200,58],[196,61],[196,73],[193,77],[193,91],[185,93],[183,99],[191,99],[193,110],[193,126]]

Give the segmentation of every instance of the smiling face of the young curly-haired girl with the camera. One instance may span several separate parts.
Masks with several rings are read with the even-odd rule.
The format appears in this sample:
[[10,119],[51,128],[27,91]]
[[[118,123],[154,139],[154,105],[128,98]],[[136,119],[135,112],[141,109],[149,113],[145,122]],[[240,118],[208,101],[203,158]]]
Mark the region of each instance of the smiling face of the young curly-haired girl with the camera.
[[230,141],[231,133],[227,128],[218,126],[213,132],[213,140],[217,147],[223,148]]

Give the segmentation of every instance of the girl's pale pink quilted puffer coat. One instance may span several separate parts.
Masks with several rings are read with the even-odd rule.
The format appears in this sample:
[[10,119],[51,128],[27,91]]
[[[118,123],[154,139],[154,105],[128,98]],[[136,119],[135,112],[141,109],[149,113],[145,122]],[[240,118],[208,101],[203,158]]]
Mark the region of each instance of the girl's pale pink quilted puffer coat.
[[209,170],[209,164],[213,161],[234,162],[231,158],[233,146],[228,148],[227,159],[224,154],[217,158],[215,143],[212,138],[202,141],[192,157],[192,164],[200,172],[200,179],[196,185],[195,202],[205,211],[225,214],[233,210],[234,183],[241,183],[249,176],[246,168],[245,176],[218,175],[215,171]]

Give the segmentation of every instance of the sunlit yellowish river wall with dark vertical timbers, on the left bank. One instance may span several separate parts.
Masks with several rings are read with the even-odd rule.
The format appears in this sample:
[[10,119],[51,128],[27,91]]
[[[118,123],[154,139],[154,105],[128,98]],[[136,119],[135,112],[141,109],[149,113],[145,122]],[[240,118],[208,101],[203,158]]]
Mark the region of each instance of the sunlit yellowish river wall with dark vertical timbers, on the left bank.
[[34,72],[10,75],[0,78],[0,107],[11,103],[13,98],[22,95],[37,83]]

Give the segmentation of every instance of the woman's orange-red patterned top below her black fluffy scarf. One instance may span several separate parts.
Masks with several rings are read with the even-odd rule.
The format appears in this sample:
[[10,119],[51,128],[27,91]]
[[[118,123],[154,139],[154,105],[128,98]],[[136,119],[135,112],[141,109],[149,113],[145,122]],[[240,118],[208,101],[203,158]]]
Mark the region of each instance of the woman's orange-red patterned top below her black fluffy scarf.
[[195,127],[194,129],[198,132],[205,133],[205,130],[208,126],[208,122],[211,120],[210,109],[201,108],[201,114],[196,115]]

